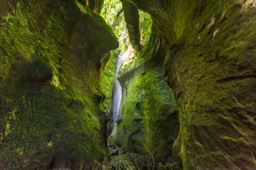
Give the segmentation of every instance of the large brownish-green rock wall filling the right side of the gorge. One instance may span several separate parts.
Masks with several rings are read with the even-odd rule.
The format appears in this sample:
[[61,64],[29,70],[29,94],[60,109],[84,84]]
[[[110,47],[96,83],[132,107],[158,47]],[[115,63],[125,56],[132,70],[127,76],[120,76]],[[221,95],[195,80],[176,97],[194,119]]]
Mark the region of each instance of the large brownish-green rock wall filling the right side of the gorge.
[[134,1],[169,42],[184,169],[255,169],[254,1]]

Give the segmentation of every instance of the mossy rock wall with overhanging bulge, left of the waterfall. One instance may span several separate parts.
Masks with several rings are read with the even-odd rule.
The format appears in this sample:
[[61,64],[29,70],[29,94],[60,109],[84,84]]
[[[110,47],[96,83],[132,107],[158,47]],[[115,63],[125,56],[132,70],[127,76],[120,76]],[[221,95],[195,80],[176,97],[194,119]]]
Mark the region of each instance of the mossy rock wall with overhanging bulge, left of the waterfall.
[[0,169],[82,169],[102,161],[108,149],[97,119],[104,98],[100,74],[102,55],[118,46],[115,36],[77,1],[6,4]]

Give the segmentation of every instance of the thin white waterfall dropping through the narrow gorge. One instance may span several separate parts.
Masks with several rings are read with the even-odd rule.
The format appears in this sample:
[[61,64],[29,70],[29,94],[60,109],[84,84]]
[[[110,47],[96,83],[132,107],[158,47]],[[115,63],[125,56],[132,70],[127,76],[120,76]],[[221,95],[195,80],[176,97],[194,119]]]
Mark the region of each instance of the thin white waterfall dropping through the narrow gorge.
[[120,103],[122,99],[122,87],[121,84],[117,80],[117,74],[119,71],[119,68],[122,64],[122,54],[120,53],[117,59],[117,65],[115,69],[115,82],[113,84],[112,88],[112,95],[111,95],[111,107],[109,109],[109,113],[111,114],[111,129],[109,131],[109,136],[111,135],[114,125],[115,125],[115,120],[117,119],[119,108],[120,108]]

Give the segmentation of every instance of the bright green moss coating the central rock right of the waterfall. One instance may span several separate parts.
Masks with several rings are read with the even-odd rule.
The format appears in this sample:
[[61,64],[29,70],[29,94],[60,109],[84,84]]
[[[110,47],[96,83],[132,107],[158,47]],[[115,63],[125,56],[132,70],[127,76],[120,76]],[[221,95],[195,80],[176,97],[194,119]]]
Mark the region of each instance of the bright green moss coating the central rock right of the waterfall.
[[[143,71],[145,74],[141,75]],[[133,75],[130,80],[128,96],[124,104],[124,129],[126,135],[131,135],[129,131],[137,126],[134,122],[141,121],[145,136],[142,139],[139,137],[134,139],[135,143],[138,142],[136,145],[139,145],[137,146],[139,152],[145,152],[144,147],[146,147],[156,152],[156,158],[165,159],[171,153],[169,144],[173,142],[175,133],[177,135],[175,100],[165,81],[161,80],[163,76],[161,69],[150,68],[143,71],[138,71],[139,73]],[[174,122],[170,123],[170,118],[174,118]],[[166,129],[169,129],[170,133],[167,134]],[[174,136],[173,139],[170,138],[171,136]],[[124,148],[131,144],[130,141],[124,143],[127,145]]]

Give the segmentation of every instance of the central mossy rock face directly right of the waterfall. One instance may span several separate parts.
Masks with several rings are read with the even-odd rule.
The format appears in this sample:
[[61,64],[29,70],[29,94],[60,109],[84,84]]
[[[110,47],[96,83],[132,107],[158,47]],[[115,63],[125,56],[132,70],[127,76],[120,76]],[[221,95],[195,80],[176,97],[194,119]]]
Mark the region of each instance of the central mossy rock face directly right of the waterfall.
[[153,167],[153,161],[156,169],[163,169],[158,168],[158,163],[171,161],[171,146],[179,131],[175,99],[162,69],[165,52],[158,49],[161,42],[148,41],[137,58],[119,71],[122,116],[117,118],[109,145],[143,155],[144,162],[134,158],[140,169]]

